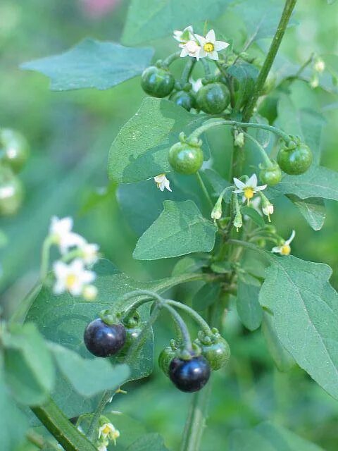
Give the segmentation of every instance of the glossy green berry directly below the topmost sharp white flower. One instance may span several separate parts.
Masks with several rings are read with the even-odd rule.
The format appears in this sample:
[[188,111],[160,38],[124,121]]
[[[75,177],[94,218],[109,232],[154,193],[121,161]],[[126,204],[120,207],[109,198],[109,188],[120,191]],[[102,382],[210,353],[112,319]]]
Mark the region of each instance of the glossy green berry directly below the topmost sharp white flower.
[[223,83],[208,83],[199,89],[196,101],[199,109],[205,113],[222,113],[229,104],[230,94]]

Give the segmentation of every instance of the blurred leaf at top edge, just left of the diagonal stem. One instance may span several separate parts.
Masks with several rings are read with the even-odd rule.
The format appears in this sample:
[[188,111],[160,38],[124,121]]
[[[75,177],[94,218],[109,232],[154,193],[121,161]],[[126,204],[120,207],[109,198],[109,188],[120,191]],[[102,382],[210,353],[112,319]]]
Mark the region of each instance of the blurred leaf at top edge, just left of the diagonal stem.
[[[234,11],[238,14],[246,25],[248,32],[248,42],[257,41],[275,35],[280,16],[283,11],[282,2],[279,0],[246,1],[242,0],[234,6]],[[294,25],[291,20],[288,26]]]

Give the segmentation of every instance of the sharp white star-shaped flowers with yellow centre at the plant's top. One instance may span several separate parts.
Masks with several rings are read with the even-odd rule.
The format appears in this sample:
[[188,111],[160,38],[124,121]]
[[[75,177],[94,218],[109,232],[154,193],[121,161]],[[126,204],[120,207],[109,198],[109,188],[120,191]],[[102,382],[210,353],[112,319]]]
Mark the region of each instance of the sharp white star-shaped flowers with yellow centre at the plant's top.
[[210,30],[206,37],[194,33],[192,25],[184,28],[184,30],[175,30],[174,39],[179,42],[178,47],[182,49],[180,56],[192,56],[199,61],[200,58],[210,58],[218,60],[218,51],[224,50],[230,44],[224,41],[217,41],[215,31]]

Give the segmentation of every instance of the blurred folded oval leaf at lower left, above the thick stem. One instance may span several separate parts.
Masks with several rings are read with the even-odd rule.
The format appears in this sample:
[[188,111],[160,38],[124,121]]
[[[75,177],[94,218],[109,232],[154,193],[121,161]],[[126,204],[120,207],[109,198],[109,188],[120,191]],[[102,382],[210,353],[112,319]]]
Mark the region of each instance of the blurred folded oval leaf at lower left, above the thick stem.
[[26,405],[42,404],[54,388],[51,354],[34,324],[12,326],[4,337],[6,382]]

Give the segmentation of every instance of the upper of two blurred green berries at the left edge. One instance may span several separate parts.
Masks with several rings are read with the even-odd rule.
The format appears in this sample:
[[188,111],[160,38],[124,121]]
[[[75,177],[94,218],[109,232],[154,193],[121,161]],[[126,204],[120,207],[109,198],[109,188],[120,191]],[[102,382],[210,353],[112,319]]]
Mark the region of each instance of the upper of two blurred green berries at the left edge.
[[18,173],[27,161],[28,143],[21,133],[10,128],[0,129],[0,159]]

